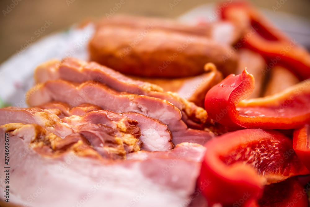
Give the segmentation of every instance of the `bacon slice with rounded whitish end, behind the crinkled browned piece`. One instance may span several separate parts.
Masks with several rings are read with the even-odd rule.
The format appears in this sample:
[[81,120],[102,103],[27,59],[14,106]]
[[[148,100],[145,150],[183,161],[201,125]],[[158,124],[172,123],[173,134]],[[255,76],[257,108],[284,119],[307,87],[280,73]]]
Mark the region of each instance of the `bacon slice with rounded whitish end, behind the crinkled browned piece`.
[[[60,112],[60,110],[53,108],[53,106],[62,109],[62,111]],[[120,131],[126,132],[126,126],[130,125],[132,121],[137,120],[138,124],[135,123],[135,125],[141,129],[141,136],[137,138],[143,142],[142,149],[149,151],[168,151],[174,146],[172,143],[172,133],[168,127],[159,120],[136,112],[125,112],[123,113],[124,116],[107,110],[94,110],[83,116],[71,113],[75,108],[84,108],[86,111],[99,108],[91,104],[82,104],[82,106],[83,107],[79,105],[70,108],[66,103],[51,102],[40,105],[38,108],[1,108],[0,114],[3,114],[3,116],[0,117],[0,123],[2,125],[18,122],[24,124],[36,123],[46,128],[48,131],[55,133],[57,136],[65,138],[71,134],[78,133],[79,129],[77,127],[74,128],[74,126],[83,124],[104,124],[113,129],[119,128]],[[54,114],[55,112],[57,112],[57,114]],[[10,115],[11,118],[7,119],[5,114],[15,115]],[[44,116],[42,116],[42,114]],[[127,119],[127,117],[130,119]],[[127,131],[126,133],[131,132]],[[175,143],[197,142],[204,144],[208,141],[209,136],[213,136],[213,134],[207,131],[193,129],[185,129],[183,133],[175,132],[174,134],[173,142]],[[186,136],[186,134],[190,136]],[[123,137],[122,134],[118,136]]]

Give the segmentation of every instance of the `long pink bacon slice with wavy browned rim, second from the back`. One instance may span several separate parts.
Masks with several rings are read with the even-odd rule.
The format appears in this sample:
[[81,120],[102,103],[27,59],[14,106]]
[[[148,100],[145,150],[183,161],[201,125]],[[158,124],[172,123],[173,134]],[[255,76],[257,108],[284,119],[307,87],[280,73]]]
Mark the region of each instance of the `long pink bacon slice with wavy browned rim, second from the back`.
[[[178,142],[177,133],[196,132],[187,130],[186,124],[181,120],[181,113],[171,103],[144,95],[127,94],[117,92],[95,81],[86,81],[82,84],[74,84],[64,80],[47,81],[41,85],[33,95],[29,95],[30,106],[38,106],[51,101],[61,101],[77,106],[81,103],[91,103],[103,109],[122,112],[138,112],[146,116],[158,119],[169,127],[173,141]],[[213,134],[203,130],[197,130],[200,137],[199,144],[205,143],[213,137]],[[174,135],[176,133],[176,135]]]

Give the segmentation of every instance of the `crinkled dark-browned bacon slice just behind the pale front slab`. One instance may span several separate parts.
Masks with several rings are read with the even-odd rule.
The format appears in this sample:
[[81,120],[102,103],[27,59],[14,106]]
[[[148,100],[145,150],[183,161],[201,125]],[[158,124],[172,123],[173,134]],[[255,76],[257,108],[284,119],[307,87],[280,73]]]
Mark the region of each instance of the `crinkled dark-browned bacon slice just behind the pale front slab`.
[[[9,110],[2,108],[0,112],[7,112]],[[34,113],[33,111],[35,110],[39,112]],[[44,127],[45,130],[63,139],[67,137],[82,137],[92,143],[96,151],[105,157],[113,159],[126,158],[126,153],[139,151],[143,144],[139,140],[141,133],[140,128],[136,126],[138,122],[122,114],[101,110],[90,112],[82,118],[71,116],[54,121],[49,113],[49,111],[53,112],[53,110],[46,109],[44,110],[45,112],[40,112],[38,108],[21,108],[19,111],[15,109],[18,112],[17,116],[25,117],[28,115],[32,118],[24,120],[23,123],[25,124],[35,123],[34,120],[42,117],[42,114],[44,114],[44,120],[37,121],[37,123]],[[89,118],[92,120],[89,120]],[[18,121],[18,117],[16,117],[16,120],[2,120],[1,122],[9,124]],[[68,123],[69,121],[70,123]]]

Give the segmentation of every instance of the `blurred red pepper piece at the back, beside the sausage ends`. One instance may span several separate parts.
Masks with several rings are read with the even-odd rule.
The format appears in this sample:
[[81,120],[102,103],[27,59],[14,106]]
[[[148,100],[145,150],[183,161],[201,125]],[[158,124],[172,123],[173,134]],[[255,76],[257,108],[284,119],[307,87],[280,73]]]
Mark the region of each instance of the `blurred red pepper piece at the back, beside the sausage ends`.
[[247,2],[224,2],[221,17],[244,29],[235,45],[259,52],[267,61],[267,73],[275,65],[288,68],[300,80],[310,77],[310,54],[294,39],[290,39]]

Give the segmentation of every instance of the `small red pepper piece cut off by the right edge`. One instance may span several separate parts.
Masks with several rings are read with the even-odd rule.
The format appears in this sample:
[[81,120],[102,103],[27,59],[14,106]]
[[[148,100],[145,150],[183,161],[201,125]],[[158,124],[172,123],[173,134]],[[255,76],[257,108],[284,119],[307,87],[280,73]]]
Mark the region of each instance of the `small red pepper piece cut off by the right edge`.
[[309,143],[310,126],[306,124],[300,129],[294,131],[293,148],[303,162],[310,169],[310,143]]

